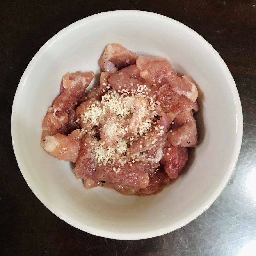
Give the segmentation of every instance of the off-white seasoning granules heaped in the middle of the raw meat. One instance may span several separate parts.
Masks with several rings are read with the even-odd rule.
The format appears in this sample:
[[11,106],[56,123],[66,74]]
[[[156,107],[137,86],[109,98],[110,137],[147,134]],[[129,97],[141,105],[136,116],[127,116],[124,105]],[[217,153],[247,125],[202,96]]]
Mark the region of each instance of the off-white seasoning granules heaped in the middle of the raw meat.
[[[148,132],[153,129],[152,125],[156,124],[156,102],[154,97],[148,94],[150,89],[146,85],[137,84],[136,86],[132,83],[130,85],[134,87],[130,91],[125,88],[120,88],[121,90],[118,91],[108,91],[102,96],[101,102],[93,102],[81,115],[80,119],[84,132],[88,130],[88,133],[95,136],[95,139],[97,133],[99,134],[103,127],[105,129],[103,131],[107,139],[104,141],[96,139],[97,141],[94,142],[94,157],[99,165],[121,164],[121,166],[124,166],[132,157],[127,153],[129,152],[129,145],[132,145],[132,142],[140,136],[147,139]],[[109,122],[108,120],[106,122],[109,115]],[[112,120],[111,115],[116,116],[116,119]],[[103,121],[104,123],[102,123]],[[160,126],[155,128],[156,130],[159,129],[158,134],[161,136],[162,128]],[[129,136],[127,137],[126,134],[129,134]],[[109,145],[108,137],[115,141],[115,146]],[[155,142],[155,140],[150,141],[152,145]],[[142,147],[140,145],[140,148]],[[126,154],[128,155],[126,156]],[[143,159],[146,159],[146,155],[144,158],[141,155],[136,155],[132,159],[132,163],[143,161]],[[118,168],[113,169],[113,171],[119,172]]]

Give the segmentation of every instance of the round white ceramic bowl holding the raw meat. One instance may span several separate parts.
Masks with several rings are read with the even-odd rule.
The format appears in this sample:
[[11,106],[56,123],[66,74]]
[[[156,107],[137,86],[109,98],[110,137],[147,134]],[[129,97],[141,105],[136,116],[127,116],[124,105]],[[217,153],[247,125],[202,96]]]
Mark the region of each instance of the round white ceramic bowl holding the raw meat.
[[[186,170],[157,195],[124,196],[113,189],[86,190],[69,162],[40,147],[41,121],[60,90],[61,77],[100,72],[109,43],[139,54],[166,57],[199,89],[199,145]],[[53,36],[21,77],[12,108],[12,143],[20,170],[38,199],[70,225],[114,239],[159,236],[204,212],[232,174],[242,140],[236,84],[220,55],[203,37],[170,18],[142,11],[113,11],[79,20]]]

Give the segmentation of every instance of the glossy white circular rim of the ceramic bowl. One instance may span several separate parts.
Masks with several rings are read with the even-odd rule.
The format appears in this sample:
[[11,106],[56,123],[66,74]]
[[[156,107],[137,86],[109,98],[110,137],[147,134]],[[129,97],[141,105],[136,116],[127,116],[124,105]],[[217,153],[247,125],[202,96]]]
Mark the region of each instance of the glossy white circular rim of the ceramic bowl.
[[[33,184],[33,181],[29,177],[30,175],[25,171],[26,165],[22,163],[22,157],[19,154],[17,145],[14,141],[14,135],[13,135],[14,134],[13,116],[15,114],[15,109],[18,107],[16,102],[18,101],[18,97],[20,97],[19,96],[20,92],[22,91],[22,88],[27,80],[27,77],[28,77],[31,69],[33,68],[35,63],[40,59],[41,55],[48,49],[48,47],[50,47],[54,42],[56,42],[58,39],[60,39],[60,37],[69,33],[73,29],[76,29],[76,28],[84,25],[84,23],[93,21],[99,17],[107,18],[108,15],[116,14],[116,13],[123,14],[123,15],[125,15],[127,13],[129,13],[129,14],[133,13],[134,15],[147,15],[147,16],[151,16],[151,17],[157,17],[157,18],[166,20],[166,22],[172,22],[173,24],[181,26],[181,27],[183,27],[183,29],[186,29],[187,31],[192,32],[194,34],[194,36],[196,36],[199,40],[201,40],[208,47],[208,49],[210,51],[212,51],[215,54],[215,56],[218,58],[219,65],[221,66],[221,68],[223,68],[224,72],[226,73],[226,77],[229,82],[230,90],[232,92],[232,96],[234,98],[235,106],[236,106],[236,141],[235,141],[234,150],[233,150],[232,156],[229,161],[229,166],[227,168],[228,171],[225,173],[225,175],[224,175],[223,179],[221,180],[221,182],[219,183],[218,187],[216,187],[216,189],[214,190],[214,193],[212,193],[212,195],[209,198],[205,199],[204,203],[199,208],[197,208],[193,212],[190,212],[186,217],[184,217],[180,221],[176,222],[175,224],[169,224],[165,228],[156,229],[153,231],[146,231],[146,232],[142,231],[140,233],[138,233],[138,232],[135,232],[135,233],[120,232],[119,233],[119,232],[112,232],[111,230],[106,231],[106,230],[101,230],[100,228],[94,228],[88,224],[83,224],[83,226],[81,226],[80,222],[75,220],[72,216],[67,215],[64,212],[61,212],[59,209],[55,208],[54,204],[48,202],[47,199],[44,197],[44,195],[41,194],[37,190],[36,185]],[[116,240],[121,240],[121,239],[123,239],[123,240],[135,240],[136,239],[137,240],[137,239],[145,239],[145,238],[161,236],[161,235],[167,234],[169,232],[172,232],[178,228],[181,228],[181,227],[185,226],[186,224],[188,224],[189,222],[191,222],[192,220],[196,219],[200,214],[202,214],[206,209],[208,209],[213,204],[213,202],[217,199],[217,197],[220,195],[220,193],[223,191],[223,189],[227,185],[228,180],[230,179],[230,177],[235,169],[236,162],[237,162],[240,148],[241,148],[241,144],[242,144],[243,116],[242,116],[241,101],[240,101],[239,94],[238,94],[238,91],[236,88],[236,84],[235,84],[235,81],[234,81],[227,65],[225,64],[224,60],[220,57],[219,53],[202,36],[200,36],[193,29],[189,28],[188,26],[184,25],[183,23],[181,23],[177,20],[173,20],[172,18],[166,17],[161,14],[157,14],[154,12],[139,11],[139,10],[116,10],[116,11],[97,13],[97,14],[88,16],[86,18],[83,18],[81,20],[78,20],[78,21],[70,24],[69,26],[67,26],[66,28],[63,28],[62,30],[60,30],[60,32],[58,32],[57,34],[52,36],[39,49],[39,51],[35,54],[35,56],[29,62],[27,68],[25,69],[25,71],[20,79],[20,82],[18,84],[15,96],[14,96],[13,105],[12,105],[12,115],[11,115],[11,134],[12,134],[12,146],[14,149],[14,154],[15,154],[18,166],[20,168],[20,171],[21,171],[25,181],[27,182],[29,188],[32,190],[32,192],[35,194],[35,196],[53,214],[58,216],[61,220],[72,225],[73,227],[76,227],[82,231],[88,232],[92,235],[116,239]]]

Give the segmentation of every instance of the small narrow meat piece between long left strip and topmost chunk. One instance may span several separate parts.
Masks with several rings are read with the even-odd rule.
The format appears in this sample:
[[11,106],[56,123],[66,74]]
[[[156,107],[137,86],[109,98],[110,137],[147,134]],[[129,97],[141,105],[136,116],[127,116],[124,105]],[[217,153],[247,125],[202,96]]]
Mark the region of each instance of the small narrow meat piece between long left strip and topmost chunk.
[[102,96],[108,91],[108,79],[112,75],[110,72],[102,72],[100,74],[100,85],[88,92],[87,99],[101,100]]

